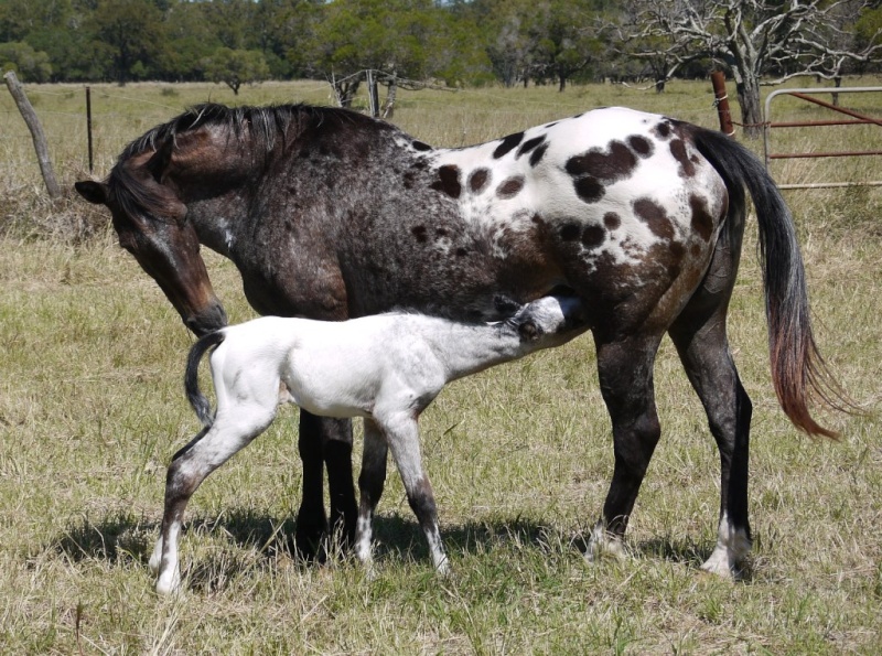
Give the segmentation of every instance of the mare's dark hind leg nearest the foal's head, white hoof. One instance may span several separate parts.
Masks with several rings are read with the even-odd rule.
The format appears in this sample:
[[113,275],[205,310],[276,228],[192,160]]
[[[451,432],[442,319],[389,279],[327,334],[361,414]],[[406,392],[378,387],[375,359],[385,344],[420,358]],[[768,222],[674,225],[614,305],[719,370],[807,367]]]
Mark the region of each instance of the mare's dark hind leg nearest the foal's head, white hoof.
[[613,426],[615,467],[603,504],[603,516],[588,544],[589,560],[602,552],[624,555],[622,537],[662,429],[655,408],[653,364],[656,335],[634,335],[598,343],[598,373]]

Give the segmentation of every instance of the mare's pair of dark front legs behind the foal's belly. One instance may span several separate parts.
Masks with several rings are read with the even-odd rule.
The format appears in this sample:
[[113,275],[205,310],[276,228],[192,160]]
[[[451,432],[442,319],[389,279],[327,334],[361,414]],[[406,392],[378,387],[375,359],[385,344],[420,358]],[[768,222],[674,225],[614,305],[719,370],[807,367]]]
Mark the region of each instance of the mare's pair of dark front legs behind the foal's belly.
[[322,538],[327,534],[324,512],[324,466],[331,496],[331,535],[340,535],[344,545],[355,537],[355,487],[352,475],[352,421],[316,417],[300,411],[298,439],[303,461],[303,496],[297,516],[294,545],[308,560],[323,559]]

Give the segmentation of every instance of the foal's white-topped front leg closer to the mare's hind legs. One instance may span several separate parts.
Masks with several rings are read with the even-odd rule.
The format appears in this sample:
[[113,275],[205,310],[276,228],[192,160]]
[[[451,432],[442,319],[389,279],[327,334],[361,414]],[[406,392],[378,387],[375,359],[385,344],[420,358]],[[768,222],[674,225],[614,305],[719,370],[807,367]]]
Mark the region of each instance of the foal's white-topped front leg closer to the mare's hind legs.
[[383,418],[376,415],[375,417],[386,434],[401,482],[405,484],[410,509],[417,516],[429,542],[432,564],[440,574],[447,574],[450,571],[450,563],[441,544],[441,531],[438,529],[438,508],[432,485],[422,471],[420,435],[415,413],[406,411]]

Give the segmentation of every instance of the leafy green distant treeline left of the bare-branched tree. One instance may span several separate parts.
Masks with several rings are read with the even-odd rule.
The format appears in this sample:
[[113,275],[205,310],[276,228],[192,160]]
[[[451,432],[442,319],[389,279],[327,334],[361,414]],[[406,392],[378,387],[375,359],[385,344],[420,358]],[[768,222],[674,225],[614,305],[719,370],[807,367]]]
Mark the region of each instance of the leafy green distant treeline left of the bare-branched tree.
[[[448,85],[641,74],[607,0],[0,0],[0,66],[25,82],[345,78]],[[688,75],[685,71],[681,74]]]

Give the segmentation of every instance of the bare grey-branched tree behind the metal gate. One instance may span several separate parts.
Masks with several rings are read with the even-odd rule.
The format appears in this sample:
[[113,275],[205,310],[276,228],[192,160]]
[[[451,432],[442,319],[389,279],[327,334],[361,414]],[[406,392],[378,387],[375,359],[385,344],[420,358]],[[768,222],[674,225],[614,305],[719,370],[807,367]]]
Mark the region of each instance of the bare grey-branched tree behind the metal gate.
[[[665,79],[708,57],[735,79],[745,135],[760,133],[760,85],[799,75],[836,78],[847,63],[879,56],[876,31],[864,45],[849,37],[867,0],[636,0],[620,24],[621,42],[638,40],[631,55],[665,57]],[[652,43],[650,40],[656,40]],[[659,46],[658,41],[665,45]],[[773,79],[762,82],[764,76]]]

